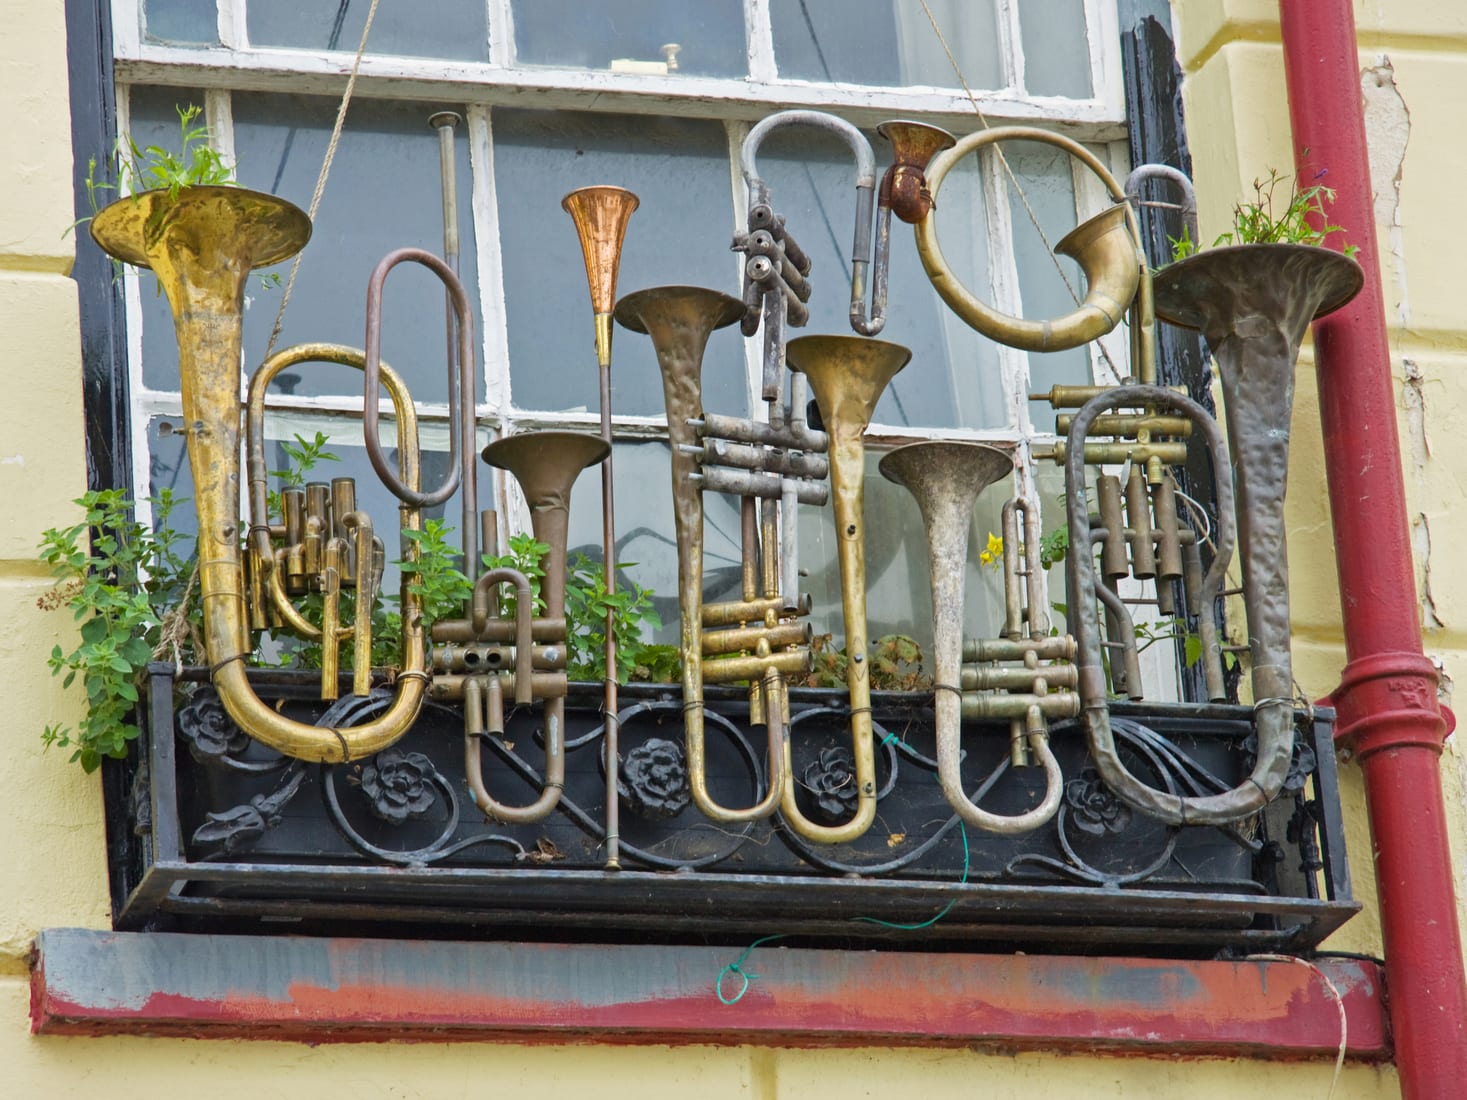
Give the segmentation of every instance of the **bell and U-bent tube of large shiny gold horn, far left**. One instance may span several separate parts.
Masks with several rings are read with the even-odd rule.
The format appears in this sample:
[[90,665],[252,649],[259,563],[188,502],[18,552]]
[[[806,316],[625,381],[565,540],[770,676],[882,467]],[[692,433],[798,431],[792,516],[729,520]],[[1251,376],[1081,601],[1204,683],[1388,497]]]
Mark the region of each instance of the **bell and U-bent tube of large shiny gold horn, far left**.
[[[204,645],[224,710],[249,736],[289,757],[323,763],[359,760],[392,745],[411,726],[427,683],[421,615],[403,588],[402,673],[390,705],[351,729],[292,722],[255,695],[245,678],[249,616],[239,531],[239,358],[245,280],[279,263],[310,238],[310,220],[292,204],[244,188],[186,188],[113,202],[92,219],[98,245],[119,260],[150,267],[173,309],[179,343],[183,421],[198,512]],[[417,437],[403,436],[402,477],[418,480]],[[255,516],[264,527],[266,518]],[[415,527],[418,513],[403,513]],[[268,528],[267,528],[268,529]],[[408,554],[414,551],[409,547]],[[258,565],[274,573],[273,554]],[[333,635],[336,632],[333,631]]]

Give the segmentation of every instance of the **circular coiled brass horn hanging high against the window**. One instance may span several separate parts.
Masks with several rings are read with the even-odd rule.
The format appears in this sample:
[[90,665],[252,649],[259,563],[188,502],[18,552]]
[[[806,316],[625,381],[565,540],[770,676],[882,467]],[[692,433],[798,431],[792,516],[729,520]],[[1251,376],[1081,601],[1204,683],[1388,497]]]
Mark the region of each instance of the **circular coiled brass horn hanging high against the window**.
[[1065,235],[1055,251],[1080,264],[1086,276],[1086,298],[1064,317],[1050,321],[1028,321],[1009,317],[984,304],[954,274],[937,243],[936,208],[917,223],[917,254],[942,299],[984,336],[1030,352],[1061,352],[1078,348],[1105,336],[1125,317],[1135,298],[1137,285],[1146,270],[1135,217],[1125,202],[1125,192],[1115,176],[1084,145],[1059,133],[1034,126],[995,126],[959,138],[951,150],[932,158],[927,166],[927,192],[936,202],[937,191],[948,172],[970,153],[998,141],[1039,141],[1055,145],[1075,157],[1106,185],[1118,205],[1096,214]]

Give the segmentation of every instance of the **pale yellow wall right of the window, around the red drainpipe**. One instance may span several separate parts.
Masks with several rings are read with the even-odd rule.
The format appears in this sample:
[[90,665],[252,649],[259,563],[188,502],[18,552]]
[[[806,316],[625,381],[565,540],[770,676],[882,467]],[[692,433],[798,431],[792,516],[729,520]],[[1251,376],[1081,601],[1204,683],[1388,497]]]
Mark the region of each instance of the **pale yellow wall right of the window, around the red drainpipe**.
[[[1289,135],[1273,0],[1174,4],[1201,236],[1226,229],[1232,204],[1270,167],[1289,172]],[[1467,158],[1467,7],[1452,0],[1356,0],[1360,84],[1370,144],[1376,233],[1397,387],[1417,594],[1429,657],[1445,672],[1445,703],[1467,659],[1467,311],[1451,248]],[[1348,229],[1348,226],[1347,226]],[[1328,380],[1326,380],[1328,384]],[[1289,575],[1294,675],[1314,697],[1344,666],[1339,593],[1319,431],[1319,381],[1306,349],[1298,371],[1289,469]],[[1455,425],[1455,427],[1454,427]],[[1467,752],[1446,742],[1444,789],[1454,842],[1460,917],[1467,915]],[[1380,952],[1360,771],[1341,771],[1351,867],[1367,911],[1328,946]]]

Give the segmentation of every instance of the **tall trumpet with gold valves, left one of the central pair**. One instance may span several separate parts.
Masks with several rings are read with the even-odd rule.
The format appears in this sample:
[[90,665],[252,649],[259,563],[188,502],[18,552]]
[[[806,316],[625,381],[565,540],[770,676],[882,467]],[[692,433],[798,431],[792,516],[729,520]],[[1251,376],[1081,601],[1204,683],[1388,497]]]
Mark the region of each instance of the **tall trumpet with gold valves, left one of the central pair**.
[[[744,315],[744,304],[698,286],[659,286],[638,290],[616,304],[616,320],[635,333],[651,337],[662,371],[662,392],[667,409],[667,437],[672,450],[673,532],[678,544],[678,607],[681,612],[679,651],[682,654],[684,739],[688,754],[688,786],[692,802],[714,821],[753,821],[767,817],[785,793],[785,711],[780,675],[810,667],[808,650],[783,648],[789,631],[794,645],[807,639],[808,628],[780,625],[782,610],[753,609],[758,595],[758,537],[751,528],[754,502],[744,497],[744,604],[731,609],[738,628],[704,634],[703,615],[703,490],[694,480],[698,463],[697,431],[689,421],[703,417],[703,352],[709,337]],[[766,562],[767,562],[766,556]],[[766,579],[766,595],[778,595]],[[750,657],[726,653],[753,650]],[[778,651],[776,651],[778,650]],[[714,660],[704,661],[704,657]],[[709,792],[707,752],[704,747],[703,685],[754,681],[751,720],[767,727],[769,791],[754,805],[729,808]],[[767,683],[767,686],[766,686]]]

